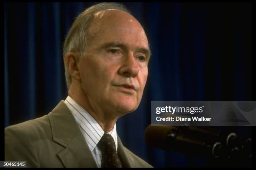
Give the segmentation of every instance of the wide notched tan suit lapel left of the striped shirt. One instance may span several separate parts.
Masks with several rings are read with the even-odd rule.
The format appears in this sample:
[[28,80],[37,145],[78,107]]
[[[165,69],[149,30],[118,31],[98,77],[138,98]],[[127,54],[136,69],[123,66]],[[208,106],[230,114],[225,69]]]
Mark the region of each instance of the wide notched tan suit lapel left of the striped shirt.
[[97,164],[72,113],[63,100],[48,114],[54,142],[65,147],[57,154],[64,167],[95,167]]

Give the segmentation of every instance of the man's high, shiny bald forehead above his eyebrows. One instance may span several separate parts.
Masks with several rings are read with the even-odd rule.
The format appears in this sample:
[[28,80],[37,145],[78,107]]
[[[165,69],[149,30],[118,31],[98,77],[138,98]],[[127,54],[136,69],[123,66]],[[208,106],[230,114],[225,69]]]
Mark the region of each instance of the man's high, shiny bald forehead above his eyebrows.
[[124,11],[102,10],[95,13],[88,32],[91,40],[97,41],[94,43],[115,41],[148,48],[148,40],[141,24]]

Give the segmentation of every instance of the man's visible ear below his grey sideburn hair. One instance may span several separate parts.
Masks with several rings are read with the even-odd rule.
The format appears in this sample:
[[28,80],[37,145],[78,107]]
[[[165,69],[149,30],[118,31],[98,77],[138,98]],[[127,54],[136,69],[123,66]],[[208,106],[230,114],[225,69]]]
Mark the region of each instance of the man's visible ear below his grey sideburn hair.
[[75,52],[67,53],[65,58],[66,67],[67,67],[67,71],[69,72],[69,75],[75,80],[81,82],[80,72],[78,68],[79,60],[80,60],[79,54]]

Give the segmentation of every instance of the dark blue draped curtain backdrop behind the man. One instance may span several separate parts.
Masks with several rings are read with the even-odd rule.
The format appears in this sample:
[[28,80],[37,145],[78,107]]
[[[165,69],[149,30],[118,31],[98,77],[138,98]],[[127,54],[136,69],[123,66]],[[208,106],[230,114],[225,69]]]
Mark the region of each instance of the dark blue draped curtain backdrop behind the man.
[[[5,3],[5,127],[48,114],[67,97],[64,37],[95,2]],[[151,100],[255,100],[251,2],[124,2],[152,50],[138,109],[121,117],[123,144],[154,167],[222,162],[148,147]],[[217,127],[251,135],[251,127]]]

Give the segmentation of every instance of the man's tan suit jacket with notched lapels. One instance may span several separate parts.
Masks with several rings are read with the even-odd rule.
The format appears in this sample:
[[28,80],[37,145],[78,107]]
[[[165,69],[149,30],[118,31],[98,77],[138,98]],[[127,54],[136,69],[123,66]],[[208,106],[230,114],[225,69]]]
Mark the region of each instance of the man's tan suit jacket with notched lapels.
[[[125,148],[119,137],[118,154],[124,168],[152,168]],[[27,161],[27,167],[97,168],[63,100],[48,115],[5,128],[5,161]]]

